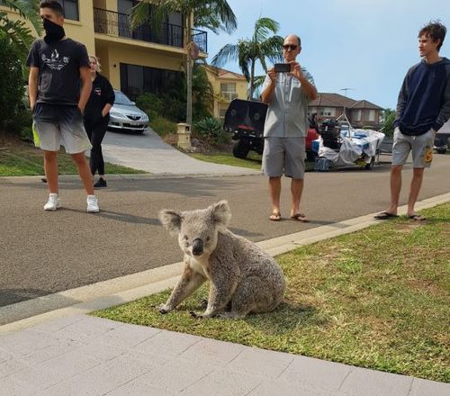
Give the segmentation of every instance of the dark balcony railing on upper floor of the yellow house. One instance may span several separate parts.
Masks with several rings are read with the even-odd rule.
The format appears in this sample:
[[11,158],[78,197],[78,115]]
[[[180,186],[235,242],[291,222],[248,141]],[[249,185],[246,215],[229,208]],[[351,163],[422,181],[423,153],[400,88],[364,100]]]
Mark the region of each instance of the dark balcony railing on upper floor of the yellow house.
[[[183,26],[163,23],[160,31],[156,33],[147,24],[139,26],[133,31],[130,28],[130,15],[115,13],[102,8],[94,8],[94,31],[112,36],[165,44],[171,47],[184,47]],[[199,49],[202,52],[206,52],[207,32],[193,29],[192,34],[193,41],[199,46]]]

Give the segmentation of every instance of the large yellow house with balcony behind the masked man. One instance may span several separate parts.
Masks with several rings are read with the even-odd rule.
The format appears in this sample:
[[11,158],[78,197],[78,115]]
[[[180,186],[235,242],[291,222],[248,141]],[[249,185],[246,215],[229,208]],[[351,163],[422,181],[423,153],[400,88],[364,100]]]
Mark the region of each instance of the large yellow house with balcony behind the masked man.
[[[103,75],[112,86],[134,98],[157,94],[184,70],[187,32],[181,14],[170,14],[155,34],[148,26],[130,30],[130,9],[136,0],[60,0],[67,37],[85,44],[100,58]],[[20,15],[0,6],[12,20]],[[193,29],[192,37],[206,58],[207,32]]]

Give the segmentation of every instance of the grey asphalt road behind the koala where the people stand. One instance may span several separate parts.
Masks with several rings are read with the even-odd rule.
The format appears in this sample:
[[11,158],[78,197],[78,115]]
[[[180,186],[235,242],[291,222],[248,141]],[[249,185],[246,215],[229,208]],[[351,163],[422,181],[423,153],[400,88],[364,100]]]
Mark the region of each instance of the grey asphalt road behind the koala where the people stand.
[[[389,158],[385,158],[389,159]],[[406,202],[411,167],[405,166]],[[175,238],[157,220],[163,208],[203,208],[229,201],[231,229],[258,241],[382,211],[389,202],[389,164],[373,171],[308,173],[302,211],[311,222],[287,220],[289,181],[282,215],[270,213],[262,175],[110,179],[98,192],[102,211],[85,213],[79,181],[60,183],[63,209],[45,212],[46,185],[37,177],[0,178],[0,306],[129,275],[182,259]],[[419,199],[450,192],[450,156],[436,155]]]

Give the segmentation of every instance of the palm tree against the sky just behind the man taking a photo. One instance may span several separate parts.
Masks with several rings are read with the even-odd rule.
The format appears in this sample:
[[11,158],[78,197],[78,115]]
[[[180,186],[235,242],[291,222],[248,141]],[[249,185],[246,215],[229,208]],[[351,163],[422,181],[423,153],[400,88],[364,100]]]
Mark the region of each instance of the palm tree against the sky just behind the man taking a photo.
[[[238,40],[238,44],[227,44],[212,58],[212,65],[222,67],[229,60],[238,60],[242,74],[250,84],[249,97],[255,92],[255,67],[257,61],[267,72],[266,58],[272,63],[283,60],[283,37],[276,35],[279,24],[270,18],[259,18],[255,23],[253,37]],[[270,35],[270,34],[274,35]]]

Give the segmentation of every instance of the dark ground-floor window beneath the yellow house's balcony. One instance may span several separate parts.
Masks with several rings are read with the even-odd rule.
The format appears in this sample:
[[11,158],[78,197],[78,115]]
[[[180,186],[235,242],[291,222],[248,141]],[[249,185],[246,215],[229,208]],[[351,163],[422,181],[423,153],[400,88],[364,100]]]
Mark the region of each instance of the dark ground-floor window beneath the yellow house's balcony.
[[163,93],[181,75],[179,71],[121,63],[121,91],[132,100],[144,92]]

